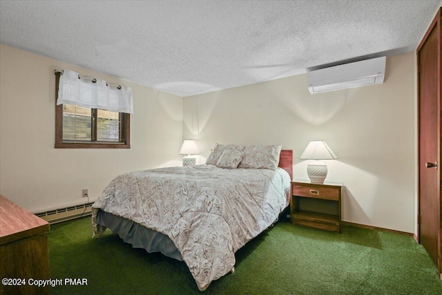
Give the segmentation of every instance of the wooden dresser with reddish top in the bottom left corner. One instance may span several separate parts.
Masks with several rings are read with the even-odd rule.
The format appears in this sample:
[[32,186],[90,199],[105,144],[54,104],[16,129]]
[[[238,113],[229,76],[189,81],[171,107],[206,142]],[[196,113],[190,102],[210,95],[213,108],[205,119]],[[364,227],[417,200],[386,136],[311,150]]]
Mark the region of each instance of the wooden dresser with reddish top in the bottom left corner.
[[[49,224],[0,195],[0,294],[49,294],[29,284],[49,278]],[[4,285],[3,279],[10,280]],[[24,279],[24,280],[23,280]],[[32,280],[30,280],[32,283]]]

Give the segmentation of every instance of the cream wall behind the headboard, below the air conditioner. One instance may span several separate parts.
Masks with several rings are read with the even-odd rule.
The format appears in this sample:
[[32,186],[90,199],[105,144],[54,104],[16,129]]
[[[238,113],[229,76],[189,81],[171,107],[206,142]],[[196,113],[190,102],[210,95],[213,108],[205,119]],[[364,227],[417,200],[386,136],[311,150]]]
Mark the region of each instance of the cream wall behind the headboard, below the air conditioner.
[[294,178],[307,178],[300,154],[325,140],[338,155],[328,181],[343,182],[343,220],[414,232],[414,53],[387,57],[385,83],[310,95],[307,75],[184,98],[183,137],[204,162],[220,144],[282,144],[294,150]]

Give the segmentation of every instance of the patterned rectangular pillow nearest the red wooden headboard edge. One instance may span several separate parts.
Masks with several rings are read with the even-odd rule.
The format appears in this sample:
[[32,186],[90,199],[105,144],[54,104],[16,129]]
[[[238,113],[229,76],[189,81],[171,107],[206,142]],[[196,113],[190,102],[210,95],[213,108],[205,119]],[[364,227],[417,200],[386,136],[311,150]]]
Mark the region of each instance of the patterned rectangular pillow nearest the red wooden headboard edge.
[[238,168],[276,170],[282,146],[254,145],[246,146],[244,156]]

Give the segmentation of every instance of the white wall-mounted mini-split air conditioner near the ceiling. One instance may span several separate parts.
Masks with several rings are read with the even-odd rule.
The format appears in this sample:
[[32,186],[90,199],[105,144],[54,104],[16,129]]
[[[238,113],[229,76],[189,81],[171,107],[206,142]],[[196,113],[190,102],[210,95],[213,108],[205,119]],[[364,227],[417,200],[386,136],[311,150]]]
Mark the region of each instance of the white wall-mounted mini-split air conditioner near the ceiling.
[[310,93],[335,91],[345,88],[383,84],[385,57],[341,64],[307,73]]

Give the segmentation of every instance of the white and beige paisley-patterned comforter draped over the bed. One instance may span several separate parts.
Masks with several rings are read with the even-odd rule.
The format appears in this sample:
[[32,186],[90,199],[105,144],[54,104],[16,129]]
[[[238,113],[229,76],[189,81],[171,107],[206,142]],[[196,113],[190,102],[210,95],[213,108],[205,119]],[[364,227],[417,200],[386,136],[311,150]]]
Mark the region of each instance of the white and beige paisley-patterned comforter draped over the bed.
[[198,288],[224,276],[235,252],[289,204],[289,174],[278,168],[169,167],[117,176],[93,204],[94,234],[102,209],[169,236]]

